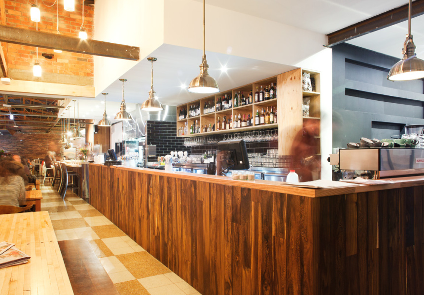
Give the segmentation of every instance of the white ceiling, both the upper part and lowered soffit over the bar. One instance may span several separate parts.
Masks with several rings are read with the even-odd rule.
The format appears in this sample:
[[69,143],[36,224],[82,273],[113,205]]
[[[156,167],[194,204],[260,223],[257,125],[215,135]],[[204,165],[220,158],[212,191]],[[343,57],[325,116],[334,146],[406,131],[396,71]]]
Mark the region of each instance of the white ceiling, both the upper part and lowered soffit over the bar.
[[[196,1],[202,2],[202,0]],[[262,18],[328,34],[405,5],[406,2],[405,0],[373,0],[372,2],[366,0],[208,0],[207,4],[252,16],[258,16],[259,11],[262,12]],[[424,56],[424,33],[419,30],[423,27],[424,16],[413,19],[412,32],[419,57]],[[358,37],[349,43],[400,59],[406,31],[407,25],[404,22]],[[189,93],[186,90],[191,79],[199,74],[202,59],[200,50],[164,44],[150,56],[158,59],[153,65],[154,89],[163,104],[179,105],[204,96]],[[212,52],[207,52],[207,59],[210,65],[209,73],[217,80],[221,90],[232,89],[293,68],[278,63]],[[120,77],[128,79],[124,85],[128,111],[133,111],[137,103],[142,103],[148,98],[150,71],[150,62],[144,59]],[[109,93],[106,97],[106,112],[113,122],[122,99],[122,83],[117,80],[102,92]],[[103,95],[98,95],[94,100],[80,99],[80,118],[95,119],[97,123],[103,117],[102,101]],[[70,113],[69,117],[73,118],[73,109]]]

